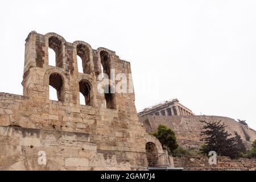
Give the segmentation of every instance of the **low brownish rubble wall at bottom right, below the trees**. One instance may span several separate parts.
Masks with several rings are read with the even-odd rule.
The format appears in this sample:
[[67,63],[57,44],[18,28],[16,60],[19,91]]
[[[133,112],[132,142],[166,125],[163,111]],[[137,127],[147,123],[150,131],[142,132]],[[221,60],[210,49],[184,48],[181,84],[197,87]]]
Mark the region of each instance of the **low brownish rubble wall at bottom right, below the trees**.
[[[217,156],[217,164],[209,165],[207,156],[193,155],[173,157],[175,164],[182,164],[188,171],[255,171],[256,159],[230,159],[225,156]],[[181,167],[181,166],[179,166]]]

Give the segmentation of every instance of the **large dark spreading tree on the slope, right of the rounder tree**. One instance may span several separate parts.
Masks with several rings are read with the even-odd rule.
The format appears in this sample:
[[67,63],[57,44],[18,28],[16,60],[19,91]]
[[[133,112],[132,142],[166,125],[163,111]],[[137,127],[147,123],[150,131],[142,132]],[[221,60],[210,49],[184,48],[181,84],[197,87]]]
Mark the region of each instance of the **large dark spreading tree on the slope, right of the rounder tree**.
[[200,148],[200,153],[208,155],[209,151],[215,151],[218,155],[229,156],[230,158],[237,158],[239,151],[237,148],[236,137],[230,137],[231,135],[225,130],[225,124],[219,122],[205,122],[201,131],[203,138],[201,141],[204,142]]

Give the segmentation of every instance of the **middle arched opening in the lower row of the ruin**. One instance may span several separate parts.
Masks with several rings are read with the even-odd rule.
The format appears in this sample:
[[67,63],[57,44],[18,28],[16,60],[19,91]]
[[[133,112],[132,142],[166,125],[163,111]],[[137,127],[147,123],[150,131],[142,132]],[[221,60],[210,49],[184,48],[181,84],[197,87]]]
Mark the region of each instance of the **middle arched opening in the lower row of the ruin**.
[[90,85],[86,80],[79,82],[80,104],[90,106]]

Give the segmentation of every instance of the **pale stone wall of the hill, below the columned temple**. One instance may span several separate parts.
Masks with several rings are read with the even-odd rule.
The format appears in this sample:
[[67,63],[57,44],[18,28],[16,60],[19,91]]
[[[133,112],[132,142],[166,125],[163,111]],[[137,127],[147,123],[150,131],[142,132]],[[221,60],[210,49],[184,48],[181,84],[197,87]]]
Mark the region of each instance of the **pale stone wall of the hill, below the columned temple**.
[[[226,125],[228,133],[234,135],[237,131],[241,135],[247,147],[256,139],[256,131],[241,125],[232,118],[208,115],[147,115],[139,117],[139,120],[146,127],[146,131],[156,131],[159,125],[166,125],[174,130],[179,144],[185,148],[198,149],[200,147],[200,133],[203,131],[204,124],[200,121],[218,122],[222,121]],[[246,141],[246,136],[250,137]]]

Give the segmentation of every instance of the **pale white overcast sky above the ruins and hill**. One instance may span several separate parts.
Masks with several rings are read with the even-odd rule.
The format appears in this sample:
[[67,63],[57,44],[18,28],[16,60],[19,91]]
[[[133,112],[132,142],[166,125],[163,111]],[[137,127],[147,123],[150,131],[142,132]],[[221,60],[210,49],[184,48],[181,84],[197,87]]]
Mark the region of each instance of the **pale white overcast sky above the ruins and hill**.
[[3,1],[0,92],[22,94],[30,31],[131,62],[137,110],[178,98],[256,129],[256,1]]

